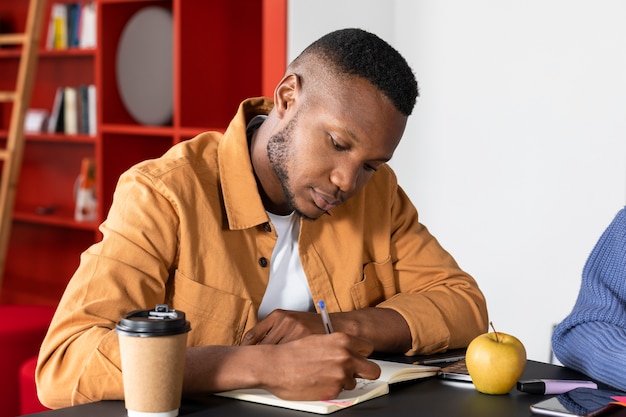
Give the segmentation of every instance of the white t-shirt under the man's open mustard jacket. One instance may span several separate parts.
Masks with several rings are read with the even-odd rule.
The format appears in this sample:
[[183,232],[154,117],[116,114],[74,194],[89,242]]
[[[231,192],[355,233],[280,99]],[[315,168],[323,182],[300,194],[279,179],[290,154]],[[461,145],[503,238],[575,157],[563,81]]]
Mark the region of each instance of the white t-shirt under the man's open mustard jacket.
[[259,307],[259,319],[277,308],[315,311],[313,296],[298,254],[300,219],[294,213],[278,216],[267,213],[274,225],[278,241],[270,261],[270,281]]

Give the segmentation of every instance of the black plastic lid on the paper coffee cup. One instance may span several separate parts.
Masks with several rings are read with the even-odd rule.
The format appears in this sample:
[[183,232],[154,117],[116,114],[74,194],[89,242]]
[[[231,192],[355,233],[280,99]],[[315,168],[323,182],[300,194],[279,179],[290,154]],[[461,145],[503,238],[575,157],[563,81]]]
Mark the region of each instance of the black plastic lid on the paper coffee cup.
[[190,323],[182,311],[170,310],[167,304],[157,304],[154,310],[135,310],[123,317],[116,332],[125,336],[155,337],[187,333]]

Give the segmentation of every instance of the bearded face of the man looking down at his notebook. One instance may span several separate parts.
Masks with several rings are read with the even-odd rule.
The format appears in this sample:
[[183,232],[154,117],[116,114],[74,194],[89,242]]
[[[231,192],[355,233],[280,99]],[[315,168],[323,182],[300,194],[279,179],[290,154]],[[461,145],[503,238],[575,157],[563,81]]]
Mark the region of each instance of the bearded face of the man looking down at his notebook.
[[373,85],[347,84],[323,100],[303,97],[267,145],[286,203],[304,218],[320,217],[363,188],[404,132],[406,116]]

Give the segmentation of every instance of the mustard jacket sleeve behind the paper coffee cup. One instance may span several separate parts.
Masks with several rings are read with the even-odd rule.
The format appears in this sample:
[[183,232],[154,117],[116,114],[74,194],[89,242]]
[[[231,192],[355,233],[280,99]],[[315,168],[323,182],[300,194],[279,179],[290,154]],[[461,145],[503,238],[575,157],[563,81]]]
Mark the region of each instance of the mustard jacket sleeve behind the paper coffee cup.
[[115,325],[164,302],[175,219],[152,181],[138,172],[121,177],[103,240],[81,255],[41,346],[36,382],[44,405],[123,398]]

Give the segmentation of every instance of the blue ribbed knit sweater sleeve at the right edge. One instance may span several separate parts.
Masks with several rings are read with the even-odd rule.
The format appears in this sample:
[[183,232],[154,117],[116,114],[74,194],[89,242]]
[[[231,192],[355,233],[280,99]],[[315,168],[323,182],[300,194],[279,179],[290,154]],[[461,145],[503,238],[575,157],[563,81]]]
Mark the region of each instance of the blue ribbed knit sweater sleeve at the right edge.
[[626,208],[587,259],[572,312],[555,329],[561,363],[626,390]]

